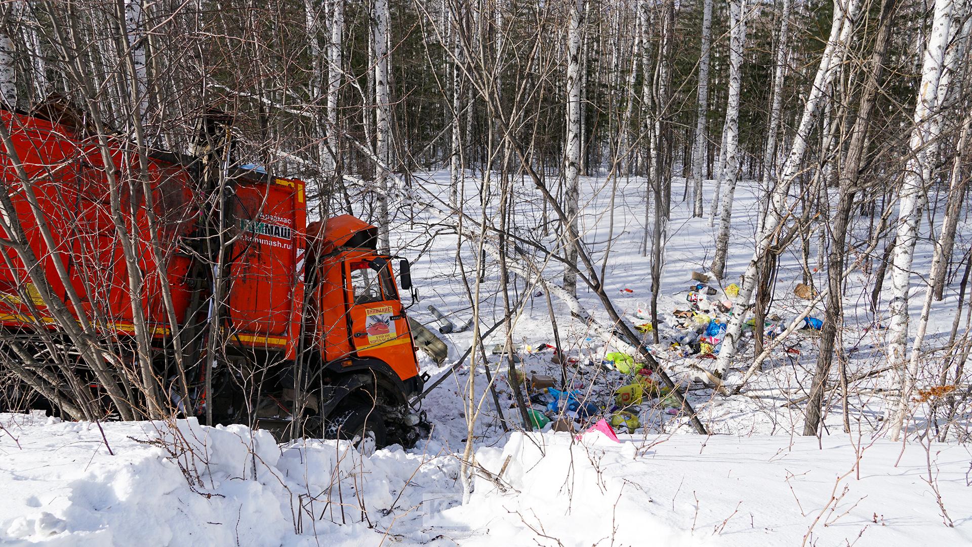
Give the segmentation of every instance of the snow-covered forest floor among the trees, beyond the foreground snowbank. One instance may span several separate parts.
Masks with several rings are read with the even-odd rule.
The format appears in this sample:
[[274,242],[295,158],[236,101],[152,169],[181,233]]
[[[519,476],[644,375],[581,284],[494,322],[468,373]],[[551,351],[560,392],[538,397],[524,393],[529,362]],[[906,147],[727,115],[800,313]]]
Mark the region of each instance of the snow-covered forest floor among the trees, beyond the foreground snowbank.
[[[684,383],[689,383],[693,377],[697,377],[699,374],[695,367],[711,370],[714,361],[700,358],[699,355],[682,357],[678,355],[677,350],[669,348],[670,342],[677,340],[680,336],[680,332],[674,326],[677,318],[672,312],[673,310],[688,310],[689,304],[686,302],[686,296],[689,293],[689,288],[694,284],[690,275],[693,271],[706,272],[708,270],[712,263],[717,228],[709,226],[708,218],[691,218],[689,201],[679,200],[681,197],[681,180],[676,179],[673,189],[676,197],[674,198],[672,220],[668,229],[666,264],[662,272],[661,295],[658,303],[660,318],[665,321],[660,328],[662,343],[654,346],[654,349],[656,356],[675,371],[677,377],[681,378]],[[603,178],[583,178],[582,183],[584,188],[581,196],[582,200],[586,200],[586,203],[585,214],[582,215],[579,222],[580,233],[584,235],[587,244],[594,249],[593,256],[599,265],[605,260],[608,241],[610,241],[605,275],[608,295],[612,297],[615,307],[633,324],[643,323],[644,319],[639,318],[638,310],[649,310],[651,286],[650,257],[642,256],[641,252],[644,234],[644,182],[636,177],[620,178],[617,181],[616,189]],[[447,175],[434,173],[423,184],[426,188],[433,189],[430,194],[447,195],[445,188]],[[707,186],[708,190],[711,190],[711,188]],[[537,227],[541,225],[543,220],[539,205],[541,201],[537,197],[533,201],[534,204],[530,204],[531,197],[538,196],[537,191],[531,185],[523,184],[518,186],[515,192],[518,206],[522,210],[518,209],[517,214],[512,217],[514,232],[521,234],[522,237],[541,241],[547,245],[547,248],[556,248],[557,234],[551,232],[543,236],[538,233]],[[477,190],[475,188],[467,189],[467,195],[466,210],[474,220],[478,221],[480,213],[477,212],[479,207]],[[930,201],[936,202],[935,197],[932,196]],[[711,197],[707,196],[707,215],[710,203]],[[731,282],[738,283],[739,275],[743,273],[752,256],[752,241],[755,237],[759,206],[756,183],[741,181],[733,207],[735,237],[730,240],[726,275],[722,286]],[[487,218],[493,219],[495,216],[493,209],[488,208],[487,211]],[[878,215],[880,214],[879,211]],[[930,215],[930,218],[936,222],[934,234],[937,234],[941,216],[941,214]],[[428,216],[430,223],[438,220],[435,215]],[[877,221],[876,218],[872,219],[866,216],[854,219],[850,230],[849,248],[852,250],[851,258],[848,259],[849,263],[853,260],[866,258],[862,255],[862,252],[867,246],[869,225],[877,223]],[[494,220],[494,222],[496,221]],[[918,284],[918,280],[927,275],[932,254],[932,239],[929,237],[927,219],[922,226],[923,237],[918,242],[914,262],[916,284],[912,291],[913,297],[910,303],[913,321],[917,320],[921,301],[924,297],[924,287]],[[439,229],[441,230],[441,228]],[[420,317],[423,322],[430,324],[430,326],[434,326],[437,324],[434,315],[426,310],[427,305],[434,305],[444,312],[452,312],[453,322],[457,325],[462,324],[471,316],[471,305],[461,275],[462,272],[456,261],[457,237],[449,235],[448,231],[445,231],[445,235],[439,235],[435,238],[434,244],[429,245],[426,241],[427,238],[421,237],[421,234],[425,233],[427,233],[426,225],[413,224],[403,217],[400,218],[397,229],[393,230],[393,234],[401,235],[399,237],[400,248],[415,249],[413,253],[419,249],[428,249],[424,251],[423,258],[414,267],[416,272],[421,272],[425,280],[420,285],[423,294],[422,304],[414,307],[411,313]],[[967,223],[960,224],[955,249],[967,248],[970,237],[972,237],[972,228]],[[417,241],[422,244],[419,245]],[[818,237],[809,241],[810,273],[814,277],[816,287],[826,286],[825,268],[816,269],[817,256],[820,252],[818,243]],[[848,355],[847,371],[851,377],[881,368],[886,363],[885,330],[875,327],[875,325],[881,327],[887,323],[886,298],[883,297],[879,301],[877,314],[870,310],[869,304],[870,292],[876,282],[877,264],[883,250],[884,244],[879,246],[872,254],[872,268],[868,272],[861,272],[858,269],[850,275],[847,282],[845,328],[842,331],[842,338],[844,350]],[[958,252],[961,251],[956,250],[956,253]],[[801,300],[793,294],[796,285],[803,280],[804,268],[801,254],[801,244],[797,241],[791,244],[780,258],[771,312],[781,317],[777,321],[781,325],[788,324],[788,320],[803,311],[807,305],[807,301]],[[410,256],[414,256],[414,254]],[[474,282],[474,249],[470,249],[469,245],[463,247],[462,256],[463,264],[469,275],[468,281],[471,284]],[[544,276],[555,280],[559,278],[561,270],[555,261],[538,260],[538,264],[543,267]],[[943,301],[933,303],[925,347],[942,347],[948,339],[955,319],[960,274],[959,272],[958,275],[951,277],[953,281],[947,287]],[[488,260],[485,282],[482,287],[483,296],[480,299],[483,328],[492,326],[503,317],[503,301],[502,294],[499,293],[499,281],[499,267],[496,261]],[[888,285],[889,282],[885,282],[885,289]],[[527,290],[524,283],[519,279],[516,279],[513,286],[516,287],[517,292],[511,295],[512,300],[516,299],[520,291]],[[717,287],[718,285],[712,283],[712,286]],[[578,299],[587,310],[603,320],[607,319],[596,296],[582,283],[578,284],[577,292]],[[724,298],[721,291],[717,298]],[[554,299],[553,304],[558,317],[561,344],[565,346],[569,356],[576,358],[581,364],[594,363],[597,365],[601,362],[605,353],[614,350],[611,346],[605,346],[604,341],[599,337],[592,335],[586,325],[572,320],[567,307],[563,306],[562,303]],[[714,313],[712,315],[715,316]],[[822,318],[823,305],[818,305],[811,315]],[[721,317],[724,318],[725,315],[722,314]],[[521,345],[523,348],[518,352],[519,357],[523,360],[522,368],[528,374],[548,374],[559,379],[560,367],[552,361],[550,351],[532,352],[526,350],[526,346],[536,349],[542,344],[554,344],[553,330],[545,299],[537,295],[528,296],[526,308],[521,315],[515,318],[514,324],[513,343]],[[964,331],[965,323],[963,322],[958,334],[961,335]],[[807,395],[810,388],[809,378],[816,364],[816,350],[819,342],[817,334],[816,332],[799,331],[786,339],[785,343],[766,360],[765,372],[755,376],[747,384],[747,393],[731,397],[713,397],[711,389],[700,384],[693,385],[689,390],[689,398],[698,410],[700,418],[712,432],[716,433],[788,435],[794,429],[802,430],[803,405],[785,406],[784,403]],[[472,334],[466,332],[444,335],[443,339],[449,344],[452,351],[450,357],[458,358],[460,353],[471,344]],[[650,337],[647,336],[645,340],[650,341]],[[497,344],[503,344],[501,333],[487,339],[486,347],[491,348]],[[490,355],[489,358],[495,367],[500,367],[501,358],[499,355]],[[925,372],[929,375],[925,380],[927,383],[937,383],[940,363],[945,362],[944,354],[941,351],[931,352],[927,354],[925,359],[931,363],[924,367]],[[736,360],[736,369],[730,371],[727,382],[729,384],[737,383],[751,360],[752,344],[749,341]],[[831,374],[831,385],[837,382],[836,369],[835,366]],[[434,377],[436,376],[437,369],[434,366],[430,364],[428,370]],[[468,378],[466,372],[468,370],[463,369],[455,380],[444,383],[442,388],[445,390],[434,393],[424,406],[430,416],[435,418],[440,434],[444,433],[442,429],[451,427],[453,423],[456,424],[455,431],[450,429],[449,434],[443,435],[444,438],[453,442],[465,439],[465,420],[455,412],[454,407],[448,404],[448,401],[463,391]],[[498,376],[501,377],[501,381],[497,382],[501,389],[501,398],[503,398],[504,403],[511,403],[509,390],[503,387],[503,372],[499,370],[497,372]],[[569,374],[575,385],[582,386],[591,400],[598,404],[608,404],[608,406],[613,389],[623,384],[622,375],[605,372],[597,366],[570,369]],[[482,393],[487,384],[483,375],[477,376],[477,382],[477,393]],[[883,419],[886,401],[882,390],[891,385],[893,385],[893,380],[890,373],[880,374],[854,383],[855,388],[851,390],[848,400],[850,409],[848,419],[851,422],[851,430],[872,432],[885,429]],[[825,434],[842,431],[844,421],[840,398],[834,392],[831,392],[829,397],[831,397],[831,404],[827,405],[823,421]],[[486,401],[483,404],[483,409],[484,413],[495,417],[496,413],[491,401]],[[916,424],[913,425],[934,426],[934,423],[929,424],[924,420],[925,408],[916,410]],[[511,412],[506,411],[507,414]],[[679,431],[690,430],[684,417],[668,415],[658,405],[643,405],[640,417],[648,432],[668,432],[673,428]],[[967,425],[967,417],[963,418],[962,421]],[[489,439],[492,435],[490,430],[496,426],[496,421],[484,420],[482,423],[484,438]],[[955,432],[956,429],[953,427],[952,431]]]

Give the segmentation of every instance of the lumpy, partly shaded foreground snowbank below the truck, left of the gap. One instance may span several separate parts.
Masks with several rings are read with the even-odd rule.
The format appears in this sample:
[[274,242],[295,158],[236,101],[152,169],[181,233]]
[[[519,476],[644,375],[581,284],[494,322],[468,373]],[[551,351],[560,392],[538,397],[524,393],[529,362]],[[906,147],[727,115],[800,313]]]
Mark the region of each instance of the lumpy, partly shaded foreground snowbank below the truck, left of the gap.
[[330,545],[378,544],[398,532],[397,518],[408,523],[423,492],[454,491],[458,477],[452,457],[362,457],[340,441],[281,448],[266,431],[194,419],[105,423],[115,456],[94,424],[12,415],[0,424],[0,543],[9,545],[301,545],[315,533]]

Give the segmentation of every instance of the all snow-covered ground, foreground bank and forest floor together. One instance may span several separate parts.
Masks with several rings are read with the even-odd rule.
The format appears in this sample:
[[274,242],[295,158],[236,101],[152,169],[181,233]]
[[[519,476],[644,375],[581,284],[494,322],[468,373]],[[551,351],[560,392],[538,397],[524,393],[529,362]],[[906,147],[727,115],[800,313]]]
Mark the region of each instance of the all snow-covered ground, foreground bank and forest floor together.
[[[447,196],[444,177],[421,182],[430,195]],[[587,200],[581,219],[595,259],[605,260],[605,281],[615,305],[633,323],[646,310],[650,260],[642,257],[644,185],[621,179],[584,179]],[[674,192],[680,198],[680,182]],[[726,283],[738,280],[751,256],[758,201],[751,183],[741,183],[733,210]],[[514,230],[554,248],[556,234],[543,234],[539,206],[529,185],[518,186]],[[616,191],[616,192],[615,192]],[[478,219],[477,188],[467,188],[466,210]],[[932,200],[934,201],[934,200]],[[708,204],[707,204],[708,206]],[[418,210],[418,209],[416,209]],[[487,208],[487,218],[495,211]],[[392,235],[399,254],[414,260],[424,297],[410,312],[435,328],[434,305],[458,325],[471,316],[464,281],[474,282],[476,253],[433,212],[409,218],[399,211]],[[854,244],[867,236],[869,218],[853,227]],[[940,219],[939,219],[940,221]],[[972,231],[960,226],[956,249]],[[429,234],[436,234],[429,237]],[[687,309],[692,271],[711,261],[714,229],[691,219],[678,201],[669,226],[667,263],[659,309],[665,323],[656,355],[690,385],[689,398],[713,434],[691,433],[687,420],[662,401],[645,397],[631,409],[640,426],[615,443],[602,433],[579,440],[568,432],[504,432],[488,393],[483,361],[474,368],[476,397],[483,414],[473,445],[478,470],[475,491],[462,503],[459,456],[467,441],[461,393],[472,369],[467,362],[423,402],[434,425],[431,437],[413,449],[392,447],[361,456],[338,441],[278,446],[266,432],[240,426],[203,427],[194,421],[65,423],[27,415],[0,415],[0,544],[31,545],[964,545],[972,544],[972,455],[967,445],[912,439],[890,443],[882,415],[885,378],[856,383],[849,397],[851,434],[843,432],[839,398],[828,401],[819,439],[794,436],[802,430],[803,405],[784,405],[805,394],[815,364],[817,338],[794,335],[774,352],[766,372],[734,396],[713,395],[692,383],[712,360],[678,356],[672,310]],[[811,241],[812,263],[816,240]],[[859,245],[858,245],[859,248]],[[922,239],[915,269],[927,271],[930,244]],[[800,245],[781,257],[773,311],[784,318],[805,306],[792,294],[802,280]],[[881,250],[881,249],[879,249]],[[957,251],[956,251],[957,252]],[[552,264],[544,275],[556,278]],[[812,273],[816,283],[823,272]],[[847,291],[843,332],[850,374],[881,366],[886,303],[874,316],[867,294],[871,274],[853,274]],[[521,280],[516,300],[527,291],[515,319],[513,342],[520,368],[559,379],[551,360],[553,330],[545,298]],[[486,267],[480,298],[483,328],[503,317],[503,295],[495,261]],[[629,289],[628,292],[624,289]],[[923,290],[916,295],[923,295]],[[604,318],[600,304],[582,285],[583,306]],[[941,346],[955,316],[957,281],[935,303],[931,340]],[[920,298],[913,299],[917,316]],[[584,398],[609,409],[613,390],[630,382],[600,367],[612,350],[554,301],[565,353],[576,361],[568,375]],[[822,308],[817,310],[822,312]],[[964,326],[962,327],[964,329]],[[963,332],[963,331],[960,331]],[[471,343],[471,333],[443,335],[449,359],[435,365],[422,355],[433,378]],[[507,427],[518,429],[516,409],[501,355],[499,333],[486,341]],[[786,349],[789,349],[787,351]],[[751,345],[739,359],[746,366]],[[928,360],[941,360],[930,353]],[[929,367],[931,369],[932,367]],[[742,372],[731,373],[729,383]],[[542,408],[537,405],[536,408]],[[916,407],[913,427],[934,422]],[[673,412],[674,411],[674,412]],[[606,411],[608,412],[608,411]],[[609,414],[609,412],[608,412]],[[962,417],[967,426],[968,417]],[[549,429],[549,426],[547,427]],[[953,428],[954,430],[957,428]],[[103,433],[102,433],[103,431]],[[932,434],[934,437],[934,434]],[[111,451],[111,452],[109,452]],[[954,527],[946,523],[954,524]]]

